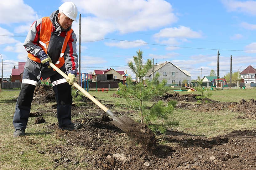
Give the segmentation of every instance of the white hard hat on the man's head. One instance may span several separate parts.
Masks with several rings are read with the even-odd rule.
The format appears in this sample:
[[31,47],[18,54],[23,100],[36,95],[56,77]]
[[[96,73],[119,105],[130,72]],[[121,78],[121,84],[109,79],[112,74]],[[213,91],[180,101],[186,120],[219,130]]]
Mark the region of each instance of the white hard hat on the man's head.
[[70,19],[76,21],[77,8],[73,2],[64,2],[62,5],[60,5],[59,10]]

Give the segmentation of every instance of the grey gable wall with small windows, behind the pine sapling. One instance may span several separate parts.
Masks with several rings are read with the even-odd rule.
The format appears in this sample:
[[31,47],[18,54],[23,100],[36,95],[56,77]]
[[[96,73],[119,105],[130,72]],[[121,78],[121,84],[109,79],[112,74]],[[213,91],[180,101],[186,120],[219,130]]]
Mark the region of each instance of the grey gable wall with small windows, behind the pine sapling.
[[[185,73],[181,72],[180,69],[176,68],[171,63],[167,63],[166,65],[164,65],[162,68],[157,70],[154,75],[157,72],[160,74],[160,77],[158,79],[160,82],[164,79],[167,80],[167,83],[173,83],[173,81],[175,81],[174,83],[179,83],[180,80],[181,82],[184,82],[185,80],[191,82],[191,76],[187,76]],[[164,72],[166,72],[166,75],[164,75]],[[175,72],[174,76],[172,75],[172,72]],[[152,80],[152,75],[150,77],[146,76],[145,79]]]

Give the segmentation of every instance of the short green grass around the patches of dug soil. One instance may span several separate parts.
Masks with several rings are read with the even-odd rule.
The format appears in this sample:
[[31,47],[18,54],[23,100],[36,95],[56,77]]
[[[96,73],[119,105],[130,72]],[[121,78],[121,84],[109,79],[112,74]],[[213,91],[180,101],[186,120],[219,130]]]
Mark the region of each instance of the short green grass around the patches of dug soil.
[[[105,101],[104,103],[127,104],[123,98],[113,98],[111,95],[116,91],[109,91],[108,93],[89,92],[95,96],[97,100]],[[242,98],[249,100],[256,98],[256,89],[245,90],[220,90],[208,91],[212,93],[210,97],[213,100],[221,102],[239,102]],[[190,94],[191,92],[179,92],[180,94]],[[198,92],[192,92],[199,94]],[[54,138],[52,134],[46,133],[43,127],[48,124],[56,123],[57,118],[53,114],[44,115],[47,123],[34,124],[34,118],[29,118],[28,128],[26,133],[29,135],[24,138],[13,138],[13,113],[15,110],[16,100],[18,98],[19,90],[2,90],[0,93],[0,169],[67,169],[62,165],[54,168],[54,158],[59,159],[60,155],[54,153],[41,154],[40,151],[45,151],[49,146],[62,145],[65,141]],[[46,107],[50,107],[53,103],[47,103]],[[148,102],[147,105],[152,105]],[[33,105],[31,112],[38,110],[45,110],[43,105]],[[126,108],[114,108],[114,110],[124,110]],[[135,114],[135,113],[134,113]],[[170,116],[170,120],[176,120],[180,123],[177,128],[180,132],[194,134],[198,136],[214,137],[221,134],[230,133],[233,130],[239,129],[253,129],[256,127],[255,120],[237,119],[237,116],[242,113],[235,113],[228,110],[216,110],[212,112],[196,112],[184,109],[175,109],[174,114]],[[75,117],[79,118],[78,116]],[[133,118],[137,118],[136,115]],[[72,118],[74,119],[74,117]],[[121,140],[118,138],[118,140]],[[122,141],[120,141],[122,142]],[[166,141],[160,141],[167,145]],[[76,153],[77,159],[82,159],[82,155],[90,154],[84,147],[76,146],[72,149]],[[68,169],[88,169],[89,164],[82,162],[77,165],[70,163]]]

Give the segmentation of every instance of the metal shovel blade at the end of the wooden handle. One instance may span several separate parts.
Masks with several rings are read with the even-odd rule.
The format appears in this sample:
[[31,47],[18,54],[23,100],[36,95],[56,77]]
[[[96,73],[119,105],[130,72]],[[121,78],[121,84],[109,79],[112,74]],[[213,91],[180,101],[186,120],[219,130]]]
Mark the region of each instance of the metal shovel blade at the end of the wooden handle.
[[133,119],[129,118],[128,116],[123,115],[117,120],[113,119],[111,123],[113,123],[116,127],[121,129],[123,132],[126,132],[128,127],[133,126],[137,122],[135,122]]

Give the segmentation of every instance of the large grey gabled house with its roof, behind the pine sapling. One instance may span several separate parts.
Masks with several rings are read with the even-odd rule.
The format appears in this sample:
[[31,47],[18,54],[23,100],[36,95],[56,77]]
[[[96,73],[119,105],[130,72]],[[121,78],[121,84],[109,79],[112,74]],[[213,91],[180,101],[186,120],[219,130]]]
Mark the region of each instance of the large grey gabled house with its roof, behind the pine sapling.
[[[154,75],[156,73],[160,74],[158,80],[161,82],[162,80],[167,80],[167,84],[174,83],[190,83],[191,82],[191,74],[186,70],[181,70],[179,67],[175,66],[171,62],[165,62],[162,64],[155,64],[154,67]],[[152,80],[152,69],[148,71],[145,76],[145,79]]]

